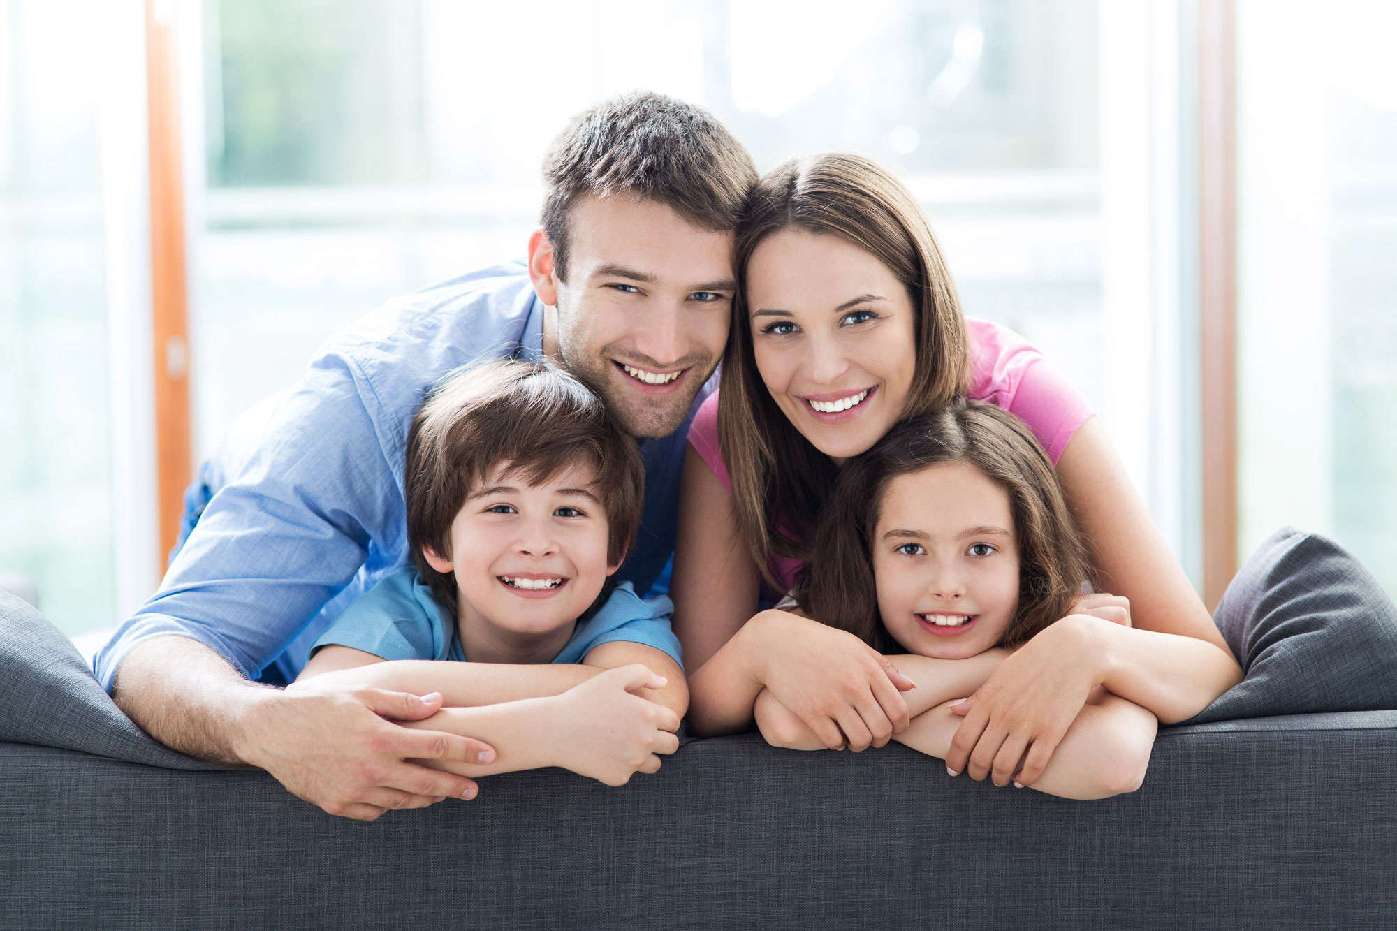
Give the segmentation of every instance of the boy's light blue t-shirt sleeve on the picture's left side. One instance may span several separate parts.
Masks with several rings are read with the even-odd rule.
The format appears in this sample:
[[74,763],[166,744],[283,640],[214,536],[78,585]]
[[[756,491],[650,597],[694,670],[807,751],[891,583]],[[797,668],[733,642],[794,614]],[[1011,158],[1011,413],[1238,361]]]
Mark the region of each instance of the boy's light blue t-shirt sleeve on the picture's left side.
[[404,568],[345,608],[312,650],[337,644],[384,660],[444,660],[454,630],[416,572]]

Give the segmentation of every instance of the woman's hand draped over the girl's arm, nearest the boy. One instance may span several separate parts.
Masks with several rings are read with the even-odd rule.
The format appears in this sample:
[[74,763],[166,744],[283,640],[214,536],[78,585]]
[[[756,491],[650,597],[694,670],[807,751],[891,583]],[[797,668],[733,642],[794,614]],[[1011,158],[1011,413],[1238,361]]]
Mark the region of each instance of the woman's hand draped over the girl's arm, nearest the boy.
[[830,749],[883,746],[907,730],[902,692],[916,685],[852,633],[785,611],[763,611],[743,630],[759,639],[761,685]]

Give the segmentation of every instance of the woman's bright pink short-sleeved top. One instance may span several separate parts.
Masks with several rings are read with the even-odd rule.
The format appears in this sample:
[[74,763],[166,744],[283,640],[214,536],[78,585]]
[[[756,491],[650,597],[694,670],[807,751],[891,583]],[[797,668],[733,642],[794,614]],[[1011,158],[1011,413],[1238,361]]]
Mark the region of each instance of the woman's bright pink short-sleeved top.
[[[988,320],[965,320],[965,329],[971,345],[970,397],[996,404],[1027,424],[1056,466],[1077,428],[1092,414],[1087,398],[1013,330]],[[722,486],[732,491],[728,466],[718,449],[717,391],[694,415],[689,445]],[[771,569],[789,591],[800,565],[799,559],[774,559]]]

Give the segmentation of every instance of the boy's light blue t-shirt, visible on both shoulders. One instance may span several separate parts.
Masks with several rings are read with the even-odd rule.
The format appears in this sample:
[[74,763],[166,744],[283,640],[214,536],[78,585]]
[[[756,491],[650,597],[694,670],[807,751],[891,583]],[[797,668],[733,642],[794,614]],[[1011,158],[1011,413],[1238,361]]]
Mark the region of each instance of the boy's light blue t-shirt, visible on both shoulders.
[[[664,650],[683,668],[679,637],[669,629],[675,605],[669,598],[641,600],[629,582],[613,590],[597,614],[578,623],[573,639],[553,663],[581,663],[594,647],[624,640]],[[436,600],[415,566],[388,573],[358,598],[316,640],[337,643],[384,660],[465,661],[455,619]]]

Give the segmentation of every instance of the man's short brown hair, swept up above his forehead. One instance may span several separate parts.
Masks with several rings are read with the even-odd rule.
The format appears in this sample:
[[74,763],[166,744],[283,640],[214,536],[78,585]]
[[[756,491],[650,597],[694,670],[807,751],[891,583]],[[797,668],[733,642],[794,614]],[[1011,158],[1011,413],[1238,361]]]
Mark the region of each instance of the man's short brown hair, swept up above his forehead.
[[627,94],[573,117],[543,157],[541,222],[567,280],[567,222],[578,197],[630,194],[703,229],[738,226],[757,168],[712,113],[664,94]]

